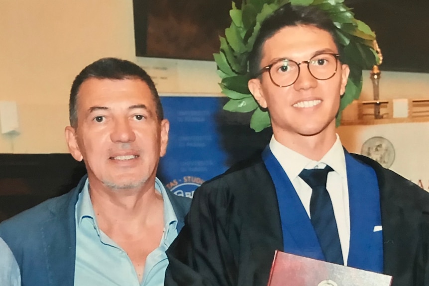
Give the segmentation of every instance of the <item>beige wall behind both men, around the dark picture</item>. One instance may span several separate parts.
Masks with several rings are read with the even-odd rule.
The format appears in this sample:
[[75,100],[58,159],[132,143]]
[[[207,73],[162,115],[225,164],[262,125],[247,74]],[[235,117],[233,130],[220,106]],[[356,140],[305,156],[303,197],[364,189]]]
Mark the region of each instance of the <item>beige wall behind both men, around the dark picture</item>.
[[[172,68],[161,93],[219,93],[214,62],[136,58],[131,0],[0,0],[0,100],[16,101],[19,134],[0,153],[67,152],[68,94],[87,64],[115,56]],[[372,87],[366,72],[363,98]],[[429,74],[383,72],[383,98],[429,97]]]

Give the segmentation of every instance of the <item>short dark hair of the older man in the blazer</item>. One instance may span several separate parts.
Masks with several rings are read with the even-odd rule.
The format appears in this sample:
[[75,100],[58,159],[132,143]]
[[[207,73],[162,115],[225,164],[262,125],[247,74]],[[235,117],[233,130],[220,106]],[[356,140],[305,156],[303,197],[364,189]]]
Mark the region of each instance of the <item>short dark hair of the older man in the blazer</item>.
[[72,127],[77,127],[78,125],[77,104],[79,89],[86,80],[92,78],[110,80],[139,79],[143,81],[148,85],[155,100],[156,116],[159,120],[164,119],[161,99],[159,98],[155,84],[141,67],[126,60],[102,58],[85,67],[73,81],[69,100],[69,119]]

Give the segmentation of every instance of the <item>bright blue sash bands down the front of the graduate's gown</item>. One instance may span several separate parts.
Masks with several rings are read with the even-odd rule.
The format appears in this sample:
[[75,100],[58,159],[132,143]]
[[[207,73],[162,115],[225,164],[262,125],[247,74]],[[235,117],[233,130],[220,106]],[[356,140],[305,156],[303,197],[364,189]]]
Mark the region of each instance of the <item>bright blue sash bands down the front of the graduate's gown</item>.
[[[350,204],[350,250],[347,265],[383,272],[383,233],[380,191],[374,170],[344,151]],[[282,223],[284,251],[325,260],[310,218],[288,176],[271,153],[262,152],[264,164],[276,188]],[[375,229],[377,230],[377,229]]]

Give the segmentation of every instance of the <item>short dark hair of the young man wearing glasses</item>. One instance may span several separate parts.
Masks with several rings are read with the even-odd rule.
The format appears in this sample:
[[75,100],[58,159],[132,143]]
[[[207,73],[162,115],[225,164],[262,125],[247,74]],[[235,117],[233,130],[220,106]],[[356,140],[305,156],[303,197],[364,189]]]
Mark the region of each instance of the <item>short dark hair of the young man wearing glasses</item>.
[[310,25],[327,31],[331,34],[338,48],[338,53],[341,54],[340,45],[335,37],[335,26],[324,11],[312,5],[292,5],[289,2],[274,11],[261,24],[252,51],[248,56],[251,78],[258,77],[258,73],[262,68],[260,65],[265,42],[282,28],[297,25]]

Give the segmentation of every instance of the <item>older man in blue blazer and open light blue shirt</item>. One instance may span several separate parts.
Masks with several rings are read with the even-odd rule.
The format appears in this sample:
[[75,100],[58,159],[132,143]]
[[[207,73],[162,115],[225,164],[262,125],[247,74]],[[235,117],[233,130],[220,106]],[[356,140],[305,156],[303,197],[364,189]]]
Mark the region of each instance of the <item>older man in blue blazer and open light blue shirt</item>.
[[70,153],[88,175],[0,224],[22,284],[164,285],[165,250],[190,201],[155,177],[169,122],[154,83],[131,62],[98,60],[72,85],[70,125]]

